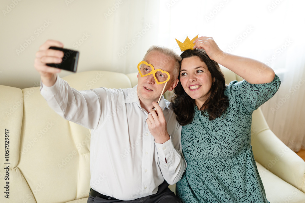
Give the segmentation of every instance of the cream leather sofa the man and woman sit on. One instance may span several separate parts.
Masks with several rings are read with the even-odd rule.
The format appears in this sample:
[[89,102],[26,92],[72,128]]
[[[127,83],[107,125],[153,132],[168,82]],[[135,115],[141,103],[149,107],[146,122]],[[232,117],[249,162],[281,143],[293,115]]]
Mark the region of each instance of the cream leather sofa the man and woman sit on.
[[[224,72],[227,83],[241,80],[227,69]],[[128,88],[137,84],[136,74],[88,71],[64,79],[78,90]],[[0,85],[0,92],[0,158],[6,163],[0,170],[0,202],[86,202],[90,189],[90,131],[52,111],[39,87]],[[271,132],[260,109],[253,113],[252,129],[253,153],[267,199],[271,203],[304,203],[305,162]],[[8,154],[4,153],[5,132],[9,132]],[[7,185],[9,199],[4,197]],[[170,186],[173,191],[174,187]]]

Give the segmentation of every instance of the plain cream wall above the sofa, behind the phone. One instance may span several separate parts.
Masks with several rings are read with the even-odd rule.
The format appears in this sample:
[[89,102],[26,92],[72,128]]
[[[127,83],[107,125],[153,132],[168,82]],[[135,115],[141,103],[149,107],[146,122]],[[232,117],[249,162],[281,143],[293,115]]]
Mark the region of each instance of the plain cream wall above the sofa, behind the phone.
[[[149,41],[147,39],[150,34],[137,39],[138,47],[135,45],[134,50],[129,51],[128,55],[119,58],[116,53],[120,52],[122,47],[135,37],[137,31],[141,31],[148,23],[141,17],[129,19],[129,14],[142,13],[141,10],[135,9],[136,6],[144,9],[149,6],[145,1],[139,2],[1,0],[0,85],[21,89],[39,86],[40,77],[33,66],[34,58],[39,46],[47,39],[59,40],[63,42],[65,48],[76,49],[80,52],[77,72],[107,70],[127,73],[128,68],[125,62],[129,56],[134,57],[133,72],[136,72],[136,65],[142,60],[145,50],[154,43],[144,43]],[[109,12],[111,8],[115,10],[112,14]],[[110,15],[105,16],[108,12]],[[129,26],[129,23],[132,26]],[[133,36],[126,36],[123,28],[134,29],[134,32],[129,30]],[[154,33],[153,28],[150,31],[151,34]],[[119,33],[118,30],[120,30]],[[76,42],[83,43],[78,46]],[[21,46],[26,48],[23,49]],[[72,73],[62,71],[59,76],[68,74]]]

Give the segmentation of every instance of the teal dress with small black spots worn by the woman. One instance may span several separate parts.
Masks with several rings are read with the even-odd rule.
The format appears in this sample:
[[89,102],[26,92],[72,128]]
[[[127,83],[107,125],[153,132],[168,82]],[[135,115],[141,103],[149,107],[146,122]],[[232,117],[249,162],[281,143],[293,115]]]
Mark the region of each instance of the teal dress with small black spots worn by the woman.
[[232,81],[224,94],[229,106],[209,121],[195,105],[193,121],[182,127],[186,172],[176,184],[185,203],[268,203],[251,148],[252,112],[269,100],[281,82]]

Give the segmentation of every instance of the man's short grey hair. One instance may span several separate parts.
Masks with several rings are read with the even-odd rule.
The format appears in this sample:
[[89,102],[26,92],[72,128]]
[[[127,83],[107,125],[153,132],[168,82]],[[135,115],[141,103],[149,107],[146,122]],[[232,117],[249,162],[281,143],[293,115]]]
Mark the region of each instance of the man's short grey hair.
[[162,53],[166,56],[169,56],[170,58],[175,60],[175,64],[174,64],[174,70],[173,70],[173,78],[172,78],[172,82],[176,79],[178,79],[179,73],[180,73],[180,67],[181,67],[181,56],[179,56],[176,52],[174,52],[174,50],[164,47],[164,46],[160,46],[160,45],[153,45],[151,47],[149,47],[149,49],[147,50],[145,56],[143,57],[143,61],[145,61],[146,56],[149,54],[149,52],[151,51],[157,51],[159,53]]

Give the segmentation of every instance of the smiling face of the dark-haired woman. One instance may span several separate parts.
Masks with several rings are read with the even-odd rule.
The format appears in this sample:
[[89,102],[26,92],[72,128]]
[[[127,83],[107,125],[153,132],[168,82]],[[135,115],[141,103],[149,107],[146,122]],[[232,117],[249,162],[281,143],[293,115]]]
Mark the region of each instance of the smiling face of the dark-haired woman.
[[213,78],[198,56],[184,58],[181,62],[180,82],[185,92],[195,100],[197,107],[203,105],[210,94]]

